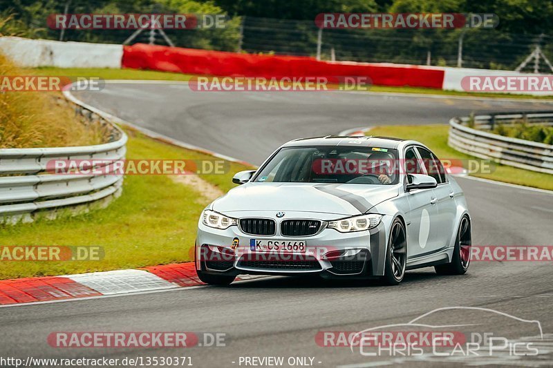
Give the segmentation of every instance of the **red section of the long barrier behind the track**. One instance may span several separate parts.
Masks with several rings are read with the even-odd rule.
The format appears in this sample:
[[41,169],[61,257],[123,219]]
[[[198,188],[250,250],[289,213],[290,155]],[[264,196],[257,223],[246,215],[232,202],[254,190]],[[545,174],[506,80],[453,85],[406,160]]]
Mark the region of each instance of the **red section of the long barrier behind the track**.
[[238,54],[137,43],[124,46],[123,68],[245,77],[368,77],[377,86],[442,88],[440,68],[317,61],[312,57]]

